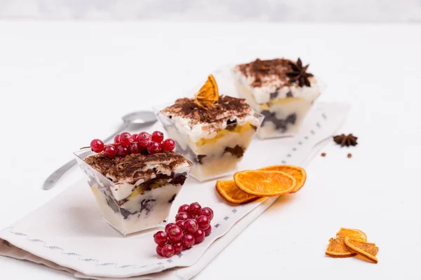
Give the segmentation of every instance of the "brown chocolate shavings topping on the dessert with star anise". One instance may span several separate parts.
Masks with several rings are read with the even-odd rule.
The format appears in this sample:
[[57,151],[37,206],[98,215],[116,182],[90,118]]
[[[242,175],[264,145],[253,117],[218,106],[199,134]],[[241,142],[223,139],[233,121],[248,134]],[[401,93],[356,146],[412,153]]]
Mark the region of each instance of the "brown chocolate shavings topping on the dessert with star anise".
[[289,59],[277,58],[270,60],[256,59],[254,62],[239,64],[237,69],[246,77],[253,77],[252,87],[262,87],[274,81],[281,81],[285,86],[290,86],[290,78],[286,73],[293,71]]

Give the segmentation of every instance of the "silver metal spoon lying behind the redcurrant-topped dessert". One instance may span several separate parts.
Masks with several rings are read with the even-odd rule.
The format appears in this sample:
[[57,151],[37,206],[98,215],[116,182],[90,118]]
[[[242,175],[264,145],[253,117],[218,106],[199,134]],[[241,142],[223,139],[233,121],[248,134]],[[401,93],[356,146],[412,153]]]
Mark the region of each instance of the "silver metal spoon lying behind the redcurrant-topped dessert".
[[[126,116],[123,116],[122,119],[123,123],[120,125],[119,129],[116,132],[114,132],[114,134],[112,134],[110,137],[105,139],[104,143],[112,141],[116,134],[123,132],[123,130],[126,130],[128,127],[134,129],[156,123],[156,116],[152,111],[139,111],[129,113]],[[74,165],[76,165],[76,160],[70,160],[65,165],[55,170],[55,172],[48,176],[42,188],[44,190],[50,190],[51,188],[53,188],[54,183],[57,182],[58,179],[60,179],[60,177],[63,176],[63,174],[65,174],[65,172],[67,172],[67,170],[72,168]]]

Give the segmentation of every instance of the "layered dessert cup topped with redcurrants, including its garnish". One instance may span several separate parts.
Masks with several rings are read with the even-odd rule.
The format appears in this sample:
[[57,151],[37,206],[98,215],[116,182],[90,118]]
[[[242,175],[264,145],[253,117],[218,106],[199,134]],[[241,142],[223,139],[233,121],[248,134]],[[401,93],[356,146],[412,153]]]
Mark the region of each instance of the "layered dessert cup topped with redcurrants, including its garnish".
[[91,151],[74,153],[102,216],[123,235],[165,225],[192,169],[192,162],[172,151],[174,141],[163,141],[159,133],[120,134],[114,140],[119,143],[108,145],[95,139]]

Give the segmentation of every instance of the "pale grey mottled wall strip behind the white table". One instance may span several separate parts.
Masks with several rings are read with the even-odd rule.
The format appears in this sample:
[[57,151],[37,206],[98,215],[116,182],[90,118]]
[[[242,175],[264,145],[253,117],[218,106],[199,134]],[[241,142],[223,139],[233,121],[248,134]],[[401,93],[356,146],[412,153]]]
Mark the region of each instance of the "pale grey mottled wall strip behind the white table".
[[0,18],[420,22],[420,0],[0,0]]

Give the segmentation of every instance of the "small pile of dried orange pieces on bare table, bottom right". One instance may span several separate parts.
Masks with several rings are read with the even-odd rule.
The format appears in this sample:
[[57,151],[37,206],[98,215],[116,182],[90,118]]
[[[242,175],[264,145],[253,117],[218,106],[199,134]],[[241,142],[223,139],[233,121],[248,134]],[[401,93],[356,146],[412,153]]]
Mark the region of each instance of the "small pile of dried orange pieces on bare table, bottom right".
[[333,258],[349,258],[356,254],[377,263],[379,248],[374,243],[367,242],[367,235],[361,230],[340,228],[336,238],[329,239],[326,255]]

